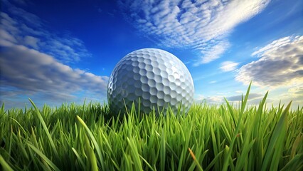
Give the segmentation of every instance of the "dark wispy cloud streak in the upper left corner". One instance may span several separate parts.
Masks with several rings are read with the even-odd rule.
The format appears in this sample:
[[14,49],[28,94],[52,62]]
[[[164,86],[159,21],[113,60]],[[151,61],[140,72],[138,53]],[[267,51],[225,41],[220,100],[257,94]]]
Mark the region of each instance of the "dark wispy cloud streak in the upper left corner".
[[38,16],[4,0],[1,12],[0,45],[23,45],[53,56],[61,63],[77,63],[91,56],[83,41],[68,34],[50,33]]

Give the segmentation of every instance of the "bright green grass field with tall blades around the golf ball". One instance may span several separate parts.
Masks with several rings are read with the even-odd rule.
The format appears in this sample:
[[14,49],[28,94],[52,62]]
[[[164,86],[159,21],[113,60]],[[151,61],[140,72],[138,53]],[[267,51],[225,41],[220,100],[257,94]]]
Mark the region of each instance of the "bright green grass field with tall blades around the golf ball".
[[[248,88],[249,93],[250,88]],[[195,104],[110,117],[89,103],[0,109],[3,170],[303,170],[303,108]],[[0,170],[1,170],[0,167]]]

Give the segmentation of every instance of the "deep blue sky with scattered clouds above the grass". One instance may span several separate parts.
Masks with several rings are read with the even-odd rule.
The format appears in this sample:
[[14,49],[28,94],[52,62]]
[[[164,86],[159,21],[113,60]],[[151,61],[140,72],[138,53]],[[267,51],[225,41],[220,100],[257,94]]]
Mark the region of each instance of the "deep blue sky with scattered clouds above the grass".
[[303,1],[0,0],[5,108],[107,103],[117,62],[161,48],[191,72],[196,103],[303,106]]

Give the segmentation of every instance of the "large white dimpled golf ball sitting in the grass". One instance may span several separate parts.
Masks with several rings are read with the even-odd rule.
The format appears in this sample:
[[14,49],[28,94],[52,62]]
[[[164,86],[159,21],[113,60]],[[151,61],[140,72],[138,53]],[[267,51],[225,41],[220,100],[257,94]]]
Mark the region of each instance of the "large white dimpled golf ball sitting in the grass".
[[142,113],[168,106],[176,114],[179,105],[188,112],[193,103],[193,79],[179,58],[156,48],[143,48],[124,56],[112,71],[107,86],[107,100],[113,113],[136,110]]

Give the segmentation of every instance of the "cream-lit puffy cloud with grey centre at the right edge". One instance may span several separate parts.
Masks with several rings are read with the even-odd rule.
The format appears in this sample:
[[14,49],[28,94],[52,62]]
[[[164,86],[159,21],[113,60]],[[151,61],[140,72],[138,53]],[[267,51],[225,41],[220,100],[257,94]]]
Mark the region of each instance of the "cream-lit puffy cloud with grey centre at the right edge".
[[259,59],[242,66],[236,81],[271,88],[303,85],[303,36],[280,38],[252,56]]

